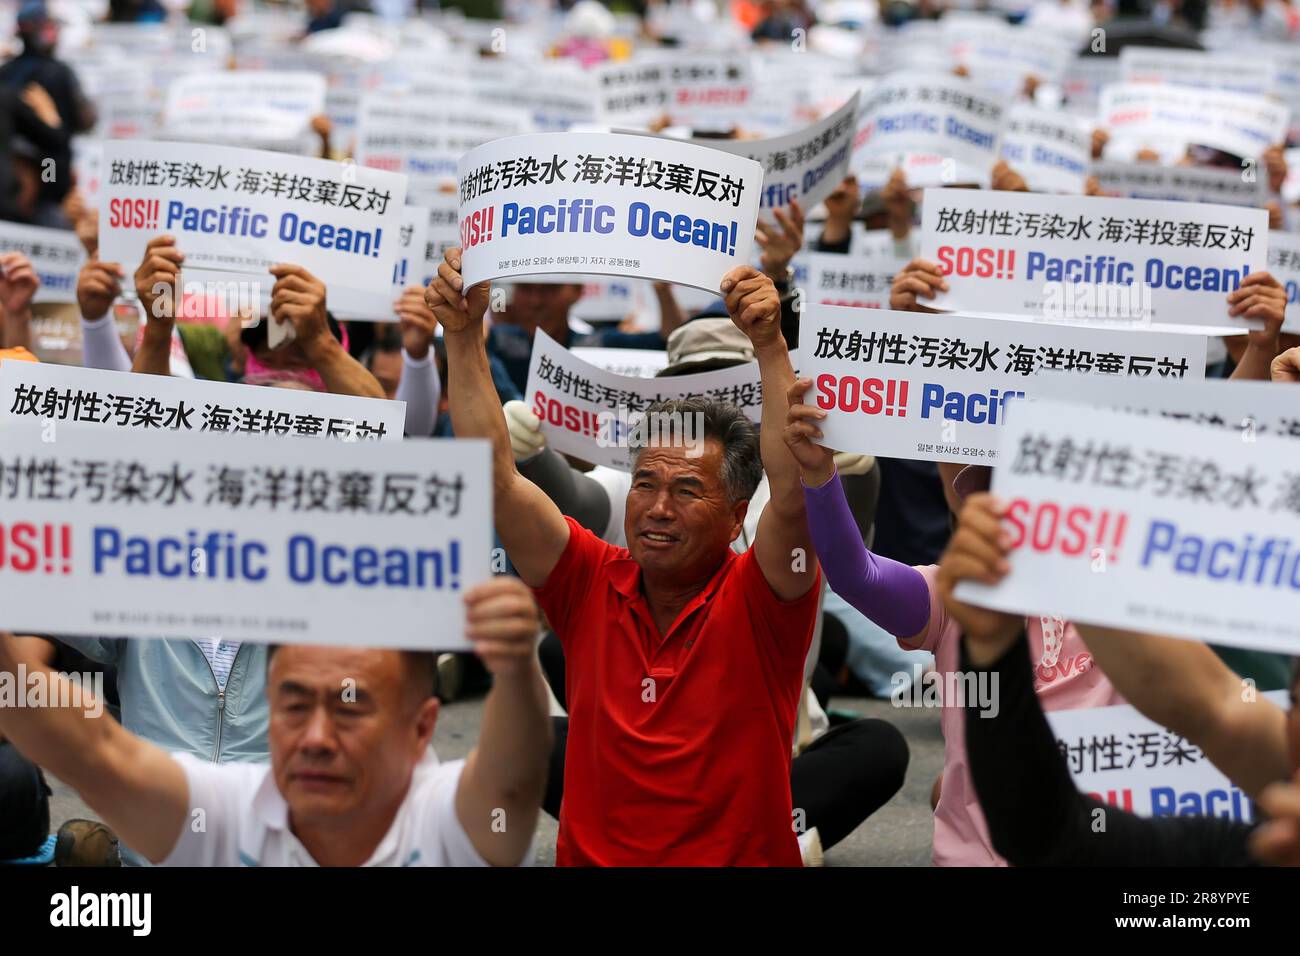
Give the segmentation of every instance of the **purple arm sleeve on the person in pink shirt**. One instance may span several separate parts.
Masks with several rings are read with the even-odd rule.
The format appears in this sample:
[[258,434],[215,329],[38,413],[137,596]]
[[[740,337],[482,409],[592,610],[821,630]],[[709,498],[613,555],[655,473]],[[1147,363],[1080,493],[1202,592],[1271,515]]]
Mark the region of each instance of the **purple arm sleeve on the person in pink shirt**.
[[867,550],[844,497],[840,473],[818,488],[803,485],[812,546],[831,591],[894,637],[911,637],[930,623],[930,588],[920,571]]

